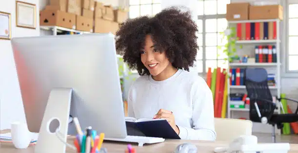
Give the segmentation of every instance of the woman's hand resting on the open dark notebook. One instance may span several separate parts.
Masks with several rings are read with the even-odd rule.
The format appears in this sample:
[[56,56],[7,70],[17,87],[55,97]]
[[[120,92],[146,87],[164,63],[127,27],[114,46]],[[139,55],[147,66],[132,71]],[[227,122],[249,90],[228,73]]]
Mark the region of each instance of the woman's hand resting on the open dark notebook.
[[179,128],[175,123],[175,117],[173,115],[173,112],[165,110],[165,109],[159,109],[159,112],[153,117],[153,119],[166,119],[171,127],[174,129],[174,131],[179,135]]

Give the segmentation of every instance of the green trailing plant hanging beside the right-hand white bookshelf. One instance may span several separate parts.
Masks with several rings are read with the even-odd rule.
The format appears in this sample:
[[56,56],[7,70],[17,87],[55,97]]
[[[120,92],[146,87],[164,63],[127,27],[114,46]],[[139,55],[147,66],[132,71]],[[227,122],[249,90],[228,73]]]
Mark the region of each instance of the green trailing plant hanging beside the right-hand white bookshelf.
[[221,35],[222,46],[219,46],[219,50],[222,50],[222,52],[226,55],[227,58],[224,58],[225,61],[232,62],[235,58],[238,58],[238,55],[235,55],[237,51],[236,28],[235,27],[227,28],[224,32],[221,32],[220,35]]

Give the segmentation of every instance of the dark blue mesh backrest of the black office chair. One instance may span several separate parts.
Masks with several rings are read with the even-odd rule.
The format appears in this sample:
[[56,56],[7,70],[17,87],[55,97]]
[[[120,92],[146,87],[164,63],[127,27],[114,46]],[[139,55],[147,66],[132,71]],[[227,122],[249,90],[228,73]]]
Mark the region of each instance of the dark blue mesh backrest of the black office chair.
[[272,95],[268,86],[268,74],[264,68],[246,68],[245,69],[245,86],[247,97],[250,98],[249,118],[254,122],[261,122],[258,117],[255,102],[262,117],[271,118],[275,107],[273,103],[258,101],[258,99],[272,102]]

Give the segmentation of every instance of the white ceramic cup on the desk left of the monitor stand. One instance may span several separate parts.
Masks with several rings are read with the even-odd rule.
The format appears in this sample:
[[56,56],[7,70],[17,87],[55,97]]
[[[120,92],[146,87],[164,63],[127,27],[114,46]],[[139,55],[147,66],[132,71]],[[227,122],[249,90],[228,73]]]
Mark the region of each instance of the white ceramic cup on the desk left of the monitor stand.
[[16,148],[26,149],[31,141],[31,133],[27,124],[24,122],[11,123],[11,139]]

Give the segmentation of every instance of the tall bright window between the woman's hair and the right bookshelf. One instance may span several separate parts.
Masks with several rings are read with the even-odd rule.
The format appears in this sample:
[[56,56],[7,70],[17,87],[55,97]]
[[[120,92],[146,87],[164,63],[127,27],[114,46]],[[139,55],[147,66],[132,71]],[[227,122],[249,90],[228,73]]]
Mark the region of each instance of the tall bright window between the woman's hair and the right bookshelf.
[[208,68],[227,68],[226,56],[219,49],[221,34],[227,28],[226,4],[230,0],[198,0],[198,44],[197,71],[206,73]]

